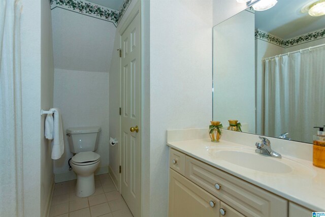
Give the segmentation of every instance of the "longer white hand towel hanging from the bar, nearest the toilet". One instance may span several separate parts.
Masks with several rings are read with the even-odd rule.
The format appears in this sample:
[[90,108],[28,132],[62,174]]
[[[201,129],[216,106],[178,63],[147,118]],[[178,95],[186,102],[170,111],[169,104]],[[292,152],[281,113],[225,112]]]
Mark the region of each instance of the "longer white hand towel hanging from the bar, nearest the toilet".
[[54,139],[52,142],[52,159],[56,160],[61,158],[64,152],[63,129],[60,110],[57,108],[52,108],[50,109],[50,111],[52,111],[54,114]]

